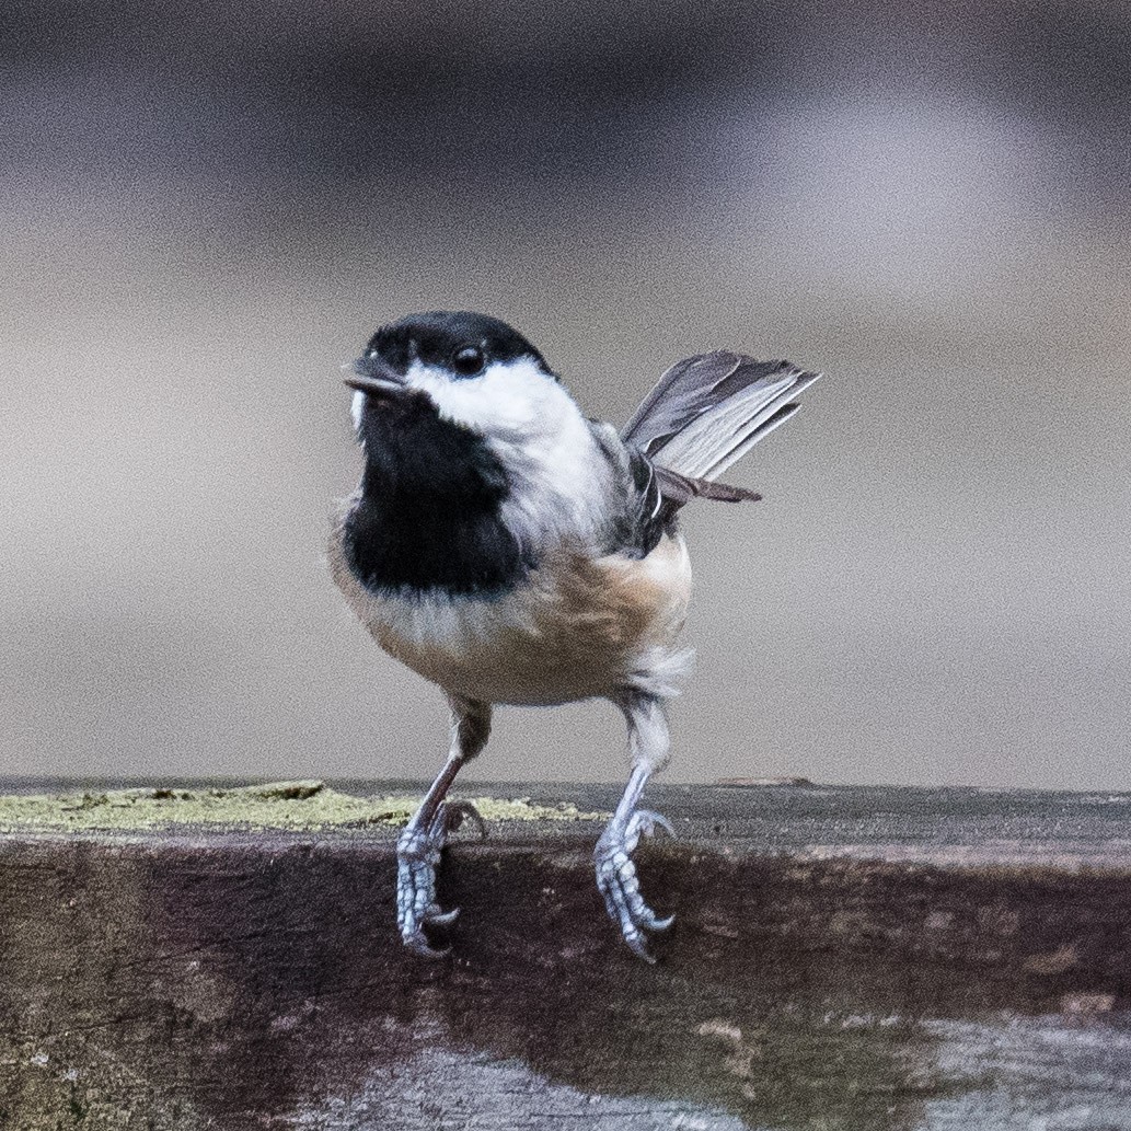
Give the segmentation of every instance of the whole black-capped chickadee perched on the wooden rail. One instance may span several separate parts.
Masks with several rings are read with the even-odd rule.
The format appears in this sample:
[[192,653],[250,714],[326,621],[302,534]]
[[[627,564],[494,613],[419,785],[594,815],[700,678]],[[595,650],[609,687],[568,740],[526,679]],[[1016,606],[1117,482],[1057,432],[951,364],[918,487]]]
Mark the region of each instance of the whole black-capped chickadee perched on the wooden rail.
[[[672,365],[623,428],[587,417],[543,354],[472,311],[408,314],[347,366],[363,454],[338,507],[329,567],[378,645],[437,684],[447,760],[397,840],[397,925],[425,957],[458,908],[437,870],[468,802],[448,798],[501,705],[603,698],[623,714],[630,774],[594,849],[605,909],[654,961],[671,927],[640,891],[633,851],[671,823],[641,808],[668,760],[665,703],[693,653],[679,644],[691,567],[679,512],[760,495],[719,476],[798,409],[820,377],[725,349]],[[481,822],[482,823],[482,822]]]

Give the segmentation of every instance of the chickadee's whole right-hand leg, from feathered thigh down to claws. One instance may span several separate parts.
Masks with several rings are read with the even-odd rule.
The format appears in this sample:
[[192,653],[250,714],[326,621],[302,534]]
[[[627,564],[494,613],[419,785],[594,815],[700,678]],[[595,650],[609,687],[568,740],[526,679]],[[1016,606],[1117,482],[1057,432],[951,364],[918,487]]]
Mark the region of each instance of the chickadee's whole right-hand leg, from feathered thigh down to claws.
[[667,760],[667,722],[659,700],[650,696],[625,697],[618,706],[629,724],[632,774],[613,819],[597,841],[594,853],[597,888],[605,899],[608,917],[620,927],[629,948],[646,962],[654,962],[645,944],[645,932],[666,931],[675,922],[675,916],[657,918],[645,903],[632,851],[641,834],[650,837],[656,829],[664,829],[675,835],[666,818],[647,809],[637,809],[648,778]]

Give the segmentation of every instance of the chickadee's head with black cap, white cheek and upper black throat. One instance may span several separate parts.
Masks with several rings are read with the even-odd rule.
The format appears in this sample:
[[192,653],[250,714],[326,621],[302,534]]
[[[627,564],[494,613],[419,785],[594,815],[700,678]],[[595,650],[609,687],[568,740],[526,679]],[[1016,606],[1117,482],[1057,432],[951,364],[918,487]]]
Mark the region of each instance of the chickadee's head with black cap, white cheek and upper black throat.
[[545,359],[506,322],[409,314],[370,338],[346,385],[368,494],[490,495],[523,545],[604,529],[607,460]]

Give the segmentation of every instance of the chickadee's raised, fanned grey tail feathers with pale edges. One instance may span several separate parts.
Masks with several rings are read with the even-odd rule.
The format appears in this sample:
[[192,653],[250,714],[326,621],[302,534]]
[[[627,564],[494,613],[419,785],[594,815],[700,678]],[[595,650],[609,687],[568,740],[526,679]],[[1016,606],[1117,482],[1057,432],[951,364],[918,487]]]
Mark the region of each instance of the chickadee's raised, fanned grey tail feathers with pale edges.
[[717,351],[676,362],[621,438],[680,475],[715,480],[798,409],[819,373]]

